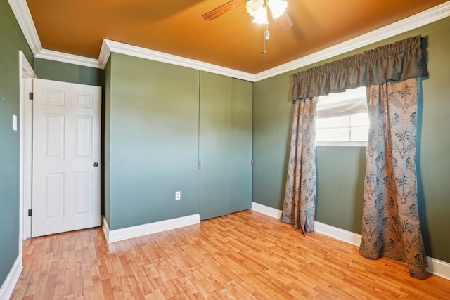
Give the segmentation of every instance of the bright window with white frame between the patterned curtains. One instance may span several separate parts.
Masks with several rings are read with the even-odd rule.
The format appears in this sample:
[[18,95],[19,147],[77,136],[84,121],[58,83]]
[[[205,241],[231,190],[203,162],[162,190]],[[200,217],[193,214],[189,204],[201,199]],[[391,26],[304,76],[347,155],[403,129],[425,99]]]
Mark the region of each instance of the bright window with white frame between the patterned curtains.
[[366,145],[366,88],[320,96],[317,103],[316,145]]

